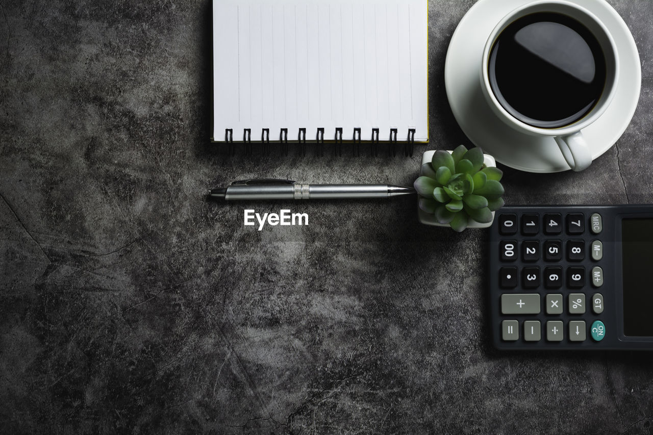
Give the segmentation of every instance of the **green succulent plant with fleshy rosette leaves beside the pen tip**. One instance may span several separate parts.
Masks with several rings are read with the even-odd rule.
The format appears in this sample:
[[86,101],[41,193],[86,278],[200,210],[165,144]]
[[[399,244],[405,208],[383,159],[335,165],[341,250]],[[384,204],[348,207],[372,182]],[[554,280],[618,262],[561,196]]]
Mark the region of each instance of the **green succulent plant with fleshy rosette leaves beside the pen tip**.
[[486,167],[481,148],[458,146],[453,153],[436,151],[431,163],[413,184],[419,193],[419,208],[436,216],[436,221],[463,231],[470,218],[492,221],[492,212],[503,206],[502,170]]

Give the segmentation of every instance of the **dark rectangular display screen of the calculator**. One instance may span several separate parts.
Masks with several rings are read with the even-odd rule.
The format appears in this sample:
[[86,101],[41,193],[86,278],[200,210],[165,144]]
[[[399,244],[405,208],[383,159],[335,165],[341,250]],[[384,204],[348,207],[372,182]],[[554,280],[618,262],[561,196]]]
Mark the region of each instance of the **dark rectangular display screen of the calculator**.
[[653,219],[622,219],[624,335],[653,336]]

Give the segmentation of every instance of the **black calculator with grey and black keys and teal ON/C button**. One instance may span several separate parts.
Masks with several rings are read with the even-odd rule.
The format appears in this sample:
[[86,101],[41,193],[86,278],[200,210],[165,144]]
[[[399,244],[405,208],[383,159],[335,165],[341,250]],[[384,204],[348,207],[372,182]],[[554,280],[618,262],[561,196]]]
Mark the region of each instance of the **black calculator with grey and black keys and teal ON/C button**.
[[653,205],[505,206],[489,244],[498,349],[653,350]]

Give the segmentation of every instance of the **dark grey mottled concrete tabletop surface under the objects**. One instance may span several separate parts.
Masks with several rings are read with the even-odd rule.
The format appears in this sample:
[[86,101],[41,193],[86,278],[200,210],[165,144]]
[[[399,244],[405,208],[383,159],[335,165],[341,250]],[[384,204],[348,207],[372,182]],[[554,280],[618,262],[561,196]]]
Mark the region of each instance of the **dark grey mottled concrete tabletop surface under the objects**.
[[[431,143],[413,158],[229,157],[210,137],[208,0],[0,1],[0,432],[651,433],[651,353],[490,347],[485,231],[414,199],[214,204],[249,176],[411,184],[468,144],[444,93],[473,1],[430,1]],[[616,146],[507,170],[509,204],[653,201],[653,3]],[[244,227],[244,208],[306,227]],[[652,307],[653,309],[653,307]]]

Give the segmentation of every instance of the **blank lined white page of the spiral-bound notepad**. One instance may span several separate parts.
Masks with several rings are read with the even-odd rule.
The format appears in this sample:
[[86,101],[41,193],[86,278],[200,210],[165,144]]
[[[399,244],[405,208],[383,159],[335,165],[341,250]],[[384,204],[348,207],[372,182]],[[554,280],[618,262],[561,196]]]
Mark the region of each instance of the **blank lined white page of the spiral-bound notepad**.
[[214,140],[428,141],[424,0],[214,0]]

